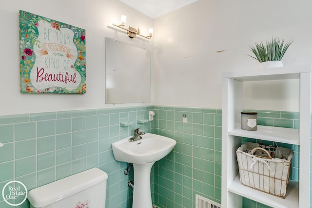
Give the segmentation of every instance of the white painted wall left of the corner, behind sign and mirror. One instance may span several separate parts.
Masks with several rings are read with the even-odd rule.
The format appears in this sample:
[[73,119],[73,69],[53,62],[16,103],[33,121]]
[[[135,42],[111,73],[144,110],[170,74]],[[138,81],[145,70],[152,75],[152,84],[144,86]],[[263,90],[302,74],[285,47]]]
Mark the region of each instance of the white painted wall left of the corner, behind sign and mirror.
[[[86,94],[20,93],[19,10],[86,29]],[[154,27],[154,19],[137,12],[119,0],[1,1],[0,115],[112,107],[113,105],[104,104],[105,36],[146,48],[152,52],[152,55],[154,51],[154,39],[130,39],[125,31],[112,26],[113,22],[120,22],[121,15],[127,16],[126,26],[139,27],[142,34],[144,32],[147,34],[148,28]],[[152,64],[154,66],[154,62]],[[119,106],[127,106],[127,104],[119,104]]]

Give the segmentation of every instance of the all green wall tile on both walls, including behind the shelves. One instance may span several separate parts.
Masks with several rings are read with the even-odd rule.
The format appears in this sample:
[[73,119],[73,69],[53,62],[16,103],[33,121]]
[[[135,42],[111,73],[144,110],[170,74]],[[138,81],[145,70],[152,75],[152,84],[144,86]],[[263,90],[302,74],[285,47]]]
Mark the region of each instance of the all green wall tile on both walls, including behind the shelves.
[[[154,121],[137,123],[148,119],[148,111],[153,109]],[[120,126],[123,121],[133,121],[133,125]],[[297,128],[298,113],[258,111],[258,122]],[[221,109],[157,105],[0,116],[0,142],[4,143],[0,148],[0,190],[12,180],[31,190],[98,167],[109,176],[106,207],[131,208],[132,190],[127,182],[133,171],[124,175],[127,164],[114,159],[111,143],[130,136],[137,127],[177,141],[174,151],[152,169],[156,206],[195,208],[196,193],[221,202]],[[291,148],[295,153],[291,179],[297,180],[298,146]],[[243,202],[245,208],[268,208],[245,198]],[[12,208],[2,196],[0,207]],[[28,201],[18,206],[29,207]]]

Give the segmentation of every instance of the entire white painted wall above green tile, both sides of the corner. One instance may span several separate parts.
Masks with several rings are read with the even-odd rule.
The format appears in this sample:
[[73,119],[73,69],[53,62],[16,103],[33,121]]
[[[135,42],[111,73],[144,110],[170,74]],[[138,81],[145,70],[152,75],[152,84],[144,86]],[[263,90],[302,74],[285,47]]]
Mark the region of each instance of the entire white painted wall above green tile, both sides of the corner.
[[[283,58],[284,65],[311,64],[311,8],[311,0],[198,0],[157,17],[154,22],[119,0],[67,0],[66,3],[5,0],[0,7],[0,115],[112,107],[104,104],[105,36],[151,50],[155,83],[152,77],[150,104],[219,108],[221,73],[258,68],[258,63],[245,55],[250,54],[248,46],[254,42],[272,36],[293,38]],[[20,94],[20,9],[86,29],[86,94]],[[141,33],[155,24],[153,38],[150,41],[130,39],[123,31],[113,28],[112,23],[118,23],[122,14],[127,16],[126,25],[139,27]],[[291,86],[293,89],[298,85],[291,83]],[[281,94],[277,89],[272,90]],[[246,99],[253,91],[248,93]],[[245,107],[296,111],[297,97],[292,93],[283,93],[283,96],[267,106],[260,99],[259,103]],[[285,100],[291,104],[276,109],[277,103]]]

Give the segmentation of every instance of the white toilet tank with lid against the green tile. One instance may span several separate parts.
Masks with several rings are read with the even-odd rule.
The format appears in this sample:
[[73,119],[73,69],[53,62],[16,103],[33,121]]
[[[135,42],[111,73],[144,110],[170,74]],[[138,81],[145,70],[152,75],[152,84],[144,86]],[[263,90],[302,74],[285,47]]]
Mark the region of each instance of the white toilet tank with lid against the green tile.
[[28,192],[31,208],[105,208],[107,173],[92,168]]

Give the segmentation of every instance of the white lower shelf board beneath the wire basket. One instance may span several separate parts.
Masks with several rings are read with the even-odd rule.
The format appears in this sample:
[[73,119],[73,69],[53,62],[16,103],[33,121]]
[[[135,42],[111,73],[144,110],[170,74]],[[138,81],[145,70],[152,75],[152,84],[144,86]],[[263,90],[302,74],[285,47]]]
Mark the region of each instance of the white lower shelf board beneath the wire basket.
[[291,180],[288,182],[285,199],[242,185],[239,174],[228,187],[228,191],[273,208],[299,208],[298,182]]

